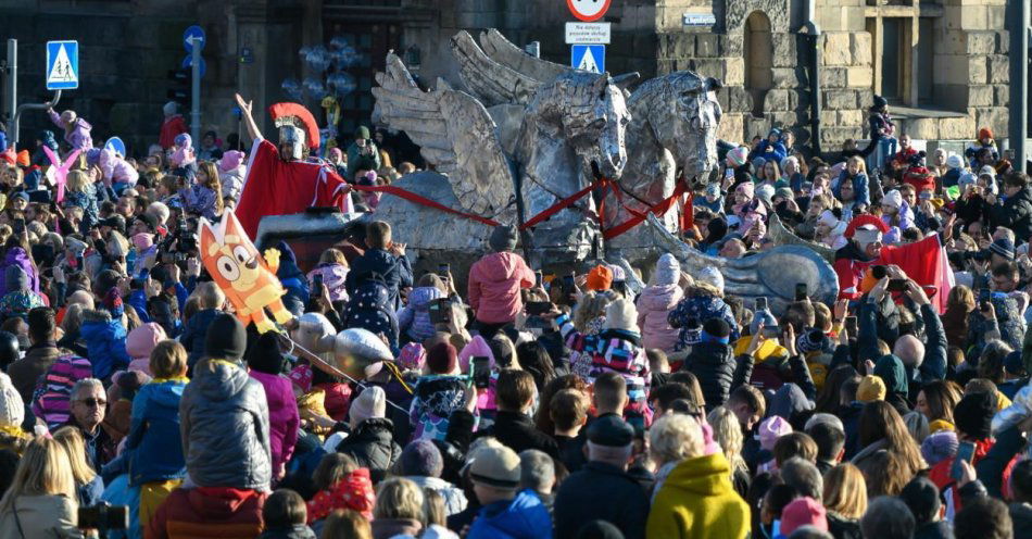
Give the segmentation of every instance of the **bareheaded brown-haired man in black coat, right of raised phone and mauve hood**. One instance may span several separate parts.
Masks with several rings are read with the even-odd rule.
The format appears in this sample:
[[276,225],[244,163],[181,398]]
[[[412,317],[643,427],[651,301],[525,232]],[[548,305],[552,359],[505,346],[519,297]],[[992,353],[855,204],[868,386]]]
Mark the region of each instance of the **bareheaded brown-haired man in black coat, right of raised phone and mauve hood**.
[[527,411],[533,405],[533,376],[527,371],[502,369],[499,373],[496,396],[498,415],[494,416],[494,423],[477,436],[493,436],[517,453],[537,449],[557,460],[558,443],[539,430],[533,419],[527,415]]

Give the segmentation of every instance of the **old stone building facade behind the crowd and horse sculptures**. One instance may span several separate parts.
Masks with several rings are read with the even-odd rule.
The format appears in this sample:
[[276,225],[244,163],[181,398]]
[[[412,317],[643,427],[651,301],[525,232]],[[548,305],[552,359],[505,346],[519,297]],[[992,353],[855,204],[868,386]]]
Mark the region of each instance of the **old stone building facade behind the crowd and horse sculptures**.
[[[718,77],[726,85],[723,138],[747,140],[778,126],[806,143],[814,45],[802,28],[813,12],[821,29],[825,151],[866,136],[874,93],[890,98],[914,138],[971,139],[980,126],[1004,138],[1005,1],[613,0],[606,67],[644,77],[685,68]],[[685,14],[712,14],[715,23],[688,26]],[[235,92],[267,105],[286,99],[285,78],[312,74],[297,53],[302,46],[347,36],[364,55],[352,68],[356,90],[341,102],[340,127],[349,133],[368,122],[373,72],[388,50],[401,53],[423,82],[440,76],[460,84],[448,49],[456,32],[495,27],[517,45],[539,41],[543,58],[567,63],[563,28],[571,20],[562,0],[5,0],[0,37],[20,39],[20,93],[39,101],[48,96],[43,41],[78,39],[83,86],[66,92],[60,108],[80,111],[99,137],[122,135],[142,152],[156,138],[161,105],[175,86],[168,71],[185,57],[181,36],[191,24],[209,36],[202,128],[225,137],[241,129]],[[317,99],[306,104],[320,112]],[[22,125],[25,139],[46,122],[34,114]]]

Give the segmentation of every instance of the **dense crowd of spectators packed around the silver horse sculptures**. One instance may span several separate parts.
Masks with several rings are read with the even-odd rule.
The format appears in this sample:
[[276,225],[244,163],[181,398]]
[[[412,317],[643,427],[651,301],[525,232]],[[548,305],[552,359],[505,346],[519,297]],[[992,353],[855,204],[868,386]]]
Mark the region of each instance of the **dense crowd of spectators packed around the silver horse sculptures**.
[[[73,111],[2,153],[4,539],[1032,537],[1032,193],[987,128],[929,162],[877,98],[870,143],[827,162],[791,130],[725,145],[683,239],[752,256],[777,215],[834,250],[830,304],[776,315],[669,253],[641,290],[603,262],[550,275],[512,226],[468,275],[419,274],[370,221],[309,272],[279,243],[295,318],[263,334],[196,237],[247,152],[164,113],[141,159]],[[415,170],[382,133],[348,145],[322,163],[349,184]],[[882,258],[931,237],[942,302]],[[354,328],[394,358],[361,380],[281,335]]]

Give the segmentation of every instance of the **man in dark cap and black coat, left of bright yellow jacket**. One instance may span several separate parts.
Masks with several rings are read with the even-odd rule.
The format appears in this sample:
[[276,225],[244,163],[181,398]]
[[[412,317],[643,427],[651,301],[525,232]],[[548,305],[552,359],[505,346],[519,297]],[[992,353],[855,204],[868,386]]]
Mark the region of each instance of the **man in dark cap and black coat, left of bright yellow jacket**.
[[649,494],[627,473],[634,428],[616,415],[588,427],[588,464],[566,478],[555,496],[555,537],[577,537],[591,521],[606,521],[627,539],[645,537]]

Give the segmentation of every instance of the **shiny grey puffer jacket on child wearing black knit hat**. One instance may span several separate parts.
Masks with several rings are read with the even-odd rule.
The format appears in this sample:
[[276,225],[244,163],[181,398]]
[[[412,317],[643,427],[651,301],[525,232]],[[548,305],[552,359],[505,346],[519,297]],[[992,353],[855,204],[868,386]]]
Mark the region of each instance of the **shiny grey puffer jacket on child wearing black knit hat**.
[[179,417],[196,485],[268,490],[273,451],[265,389],[240,364],[201,361],[183,392]]

